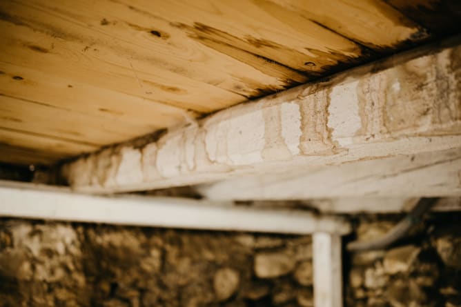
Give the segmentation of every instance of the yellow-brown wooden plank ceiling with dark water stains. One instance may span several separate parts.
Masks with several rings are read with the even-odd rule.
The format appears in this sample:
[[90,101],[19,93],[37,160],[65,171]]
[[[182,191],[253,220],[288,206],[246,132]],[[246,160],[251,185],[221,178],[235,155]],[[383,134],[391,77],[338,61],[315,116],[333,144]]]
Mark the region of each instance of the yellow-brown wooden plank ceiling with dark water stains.
[[0,2],[0,161],[53,164],[458,32],[461,1]]

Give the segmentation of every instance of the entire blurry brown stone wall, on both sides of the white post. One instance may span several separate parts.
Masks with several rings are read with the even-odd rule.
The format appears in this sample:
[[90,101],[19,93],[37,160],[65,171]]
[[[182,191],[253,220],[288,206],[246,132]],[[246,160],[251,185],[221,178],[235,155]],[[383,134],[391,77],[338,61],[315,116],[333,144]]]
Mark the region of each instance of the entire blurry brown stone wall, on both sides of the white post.
[[[355,217],[349,239],[402,216]],[[461,306],[461,215],[344,255],[346,306]],[[0,306],[313,306],[311,237],[0,219]]]

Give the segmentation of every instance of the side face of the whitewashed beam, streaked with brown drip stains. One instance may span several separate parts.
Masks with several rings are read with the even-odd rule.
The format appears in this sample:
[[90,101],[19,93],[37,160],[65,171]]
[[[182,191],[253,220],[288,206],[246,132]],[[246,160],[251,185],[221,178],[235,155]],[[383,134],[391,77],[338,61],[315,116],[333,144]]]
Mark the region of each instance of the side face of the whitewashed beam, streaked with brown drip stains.
[[75,189],[120,192],[294,172],[461,147],[461,38],[244,103],[63,166]]

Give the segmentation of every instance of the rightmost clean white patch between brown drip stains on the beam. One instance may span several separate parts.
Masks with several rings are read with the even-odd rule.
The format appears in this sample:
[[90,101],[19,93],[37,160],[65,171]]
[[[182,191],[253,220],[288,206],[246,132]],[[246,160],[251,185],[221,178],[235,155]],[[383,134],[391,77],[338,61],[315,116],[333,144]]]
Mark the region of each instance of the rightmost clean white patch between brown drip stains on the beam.
[[358,80],[342,83],[331,90],[328,128],[333,130],[333,141],[341,146],[353,143],[355,133],[362,127],[357,97],[358,83]]

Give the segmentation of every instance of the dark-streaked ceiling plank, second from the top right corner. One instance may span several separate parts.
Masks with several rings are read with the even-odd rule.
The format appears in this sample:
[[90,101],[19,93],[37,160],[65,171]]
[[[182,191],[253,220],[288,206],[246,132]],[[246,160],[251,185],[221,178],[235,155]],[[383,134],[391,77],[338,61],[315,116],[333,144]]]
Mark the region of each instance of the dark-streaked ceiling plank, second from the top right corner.
[[[240,50],[244,50],[271,59],[285,69],[321,72],[338,61],[361,55],[359,46],[349,39],[268,2],[164,1],[155,7],[149,6],[147,0],[121,2],[166,18],[190,38],[239,61],[244,61],[239,58]],[[246,60],[251,65],[256,63],[255,57]],[[308,62],[315,66],[305,65]]]

